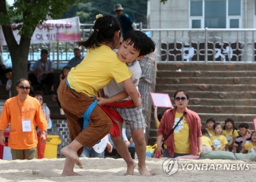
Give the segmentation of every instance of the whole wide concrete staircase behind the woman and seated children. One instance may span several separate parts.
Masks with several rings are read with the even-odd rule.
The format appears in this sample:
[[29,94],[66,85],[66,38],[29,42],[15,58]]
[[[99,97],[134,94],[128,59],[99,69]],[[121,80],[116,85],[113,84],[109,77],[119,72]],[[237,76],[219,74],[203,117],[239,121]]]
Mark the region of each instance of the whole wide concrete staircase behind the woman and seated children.
[[[174,104],[174,92],[180,88],[187,90],[190,97],[188,108],[199,114],[203,128],[210,117],[223,125],[225,119],[230,117],[237,127],[247,122],[249,128],[254,130],[256,64],[158,63],[157,68],[155,92],[168,93]],[[159,108],[158,113],[165,110]],[[152,119],[149,144],[156,141],[156,133]]]

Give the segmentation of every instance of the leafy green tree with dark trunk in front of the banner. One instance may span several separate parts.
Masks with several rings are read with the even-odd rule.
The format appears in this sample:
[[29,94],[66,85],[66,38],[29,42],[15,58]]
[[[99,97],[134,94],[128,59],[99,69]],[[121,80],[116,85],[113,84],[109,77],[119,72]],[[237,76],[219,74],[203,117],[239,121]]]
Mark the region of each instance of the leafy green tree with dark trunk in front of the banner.
[[[12,60],[13,85],[20,78],[28,77],[29,46],[36,25],[47,20],[47,17],[61,17],[63,12],[77,2],[76,0],[16,0],[7,9],[6,1],[0,1],[0,25],[2,25]],[[19,24],[15,29],[21,36],[20,42],[16,42],[12,33],[11,25],[13,23]],[[12,88],[12,93],[16,94],[16,87]]]

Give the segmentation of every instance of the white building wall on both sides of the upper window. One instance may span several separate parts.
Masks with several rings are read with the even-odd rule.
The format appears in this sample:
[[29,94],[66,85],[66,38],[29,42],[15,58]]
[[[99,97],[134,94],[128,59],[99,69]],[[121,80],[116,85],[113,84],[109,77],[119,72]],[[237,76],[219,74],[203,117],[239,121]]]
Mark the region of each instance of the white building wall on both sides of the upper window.
[[[255,0],[242,0],[242,28],[256,28],[254,15]],[[186,29],[189,28],[189,0],[150,0],[149,28]]]

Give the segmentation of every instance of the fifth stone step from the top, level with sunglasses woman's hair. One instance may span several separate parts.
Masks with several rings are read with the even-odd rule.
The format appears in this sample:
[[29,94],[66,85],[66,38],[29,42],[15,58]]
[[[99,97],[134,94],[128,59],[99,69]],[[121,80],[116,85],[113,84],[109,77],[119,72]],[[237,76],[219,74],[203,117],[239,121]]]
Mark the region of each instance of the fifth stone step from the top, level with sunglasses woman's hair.
[[[162,93],[169,94],[170,98],[173,100],[173,95],[176,90],[166,90]],[[242,92],[211,92],[211,91],[189,91],[190,98],[209,98],[209,99],[256,99],[256,91],[242,91]]]

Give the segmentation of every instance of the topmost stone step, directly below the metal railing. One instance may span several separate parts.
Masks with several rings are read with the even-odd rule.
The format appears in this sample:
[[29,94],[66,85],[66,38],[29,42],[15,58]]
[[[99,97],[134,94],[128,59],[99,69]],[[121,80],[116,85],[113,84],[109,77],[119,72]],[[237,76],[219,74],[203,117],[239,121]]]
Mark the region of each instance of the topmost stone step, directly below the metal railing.
[[158,70],[200,70],[200,71],[229,71],[229,70],[256,70],[256,64],[255,63],[158,63],[157,64]]

